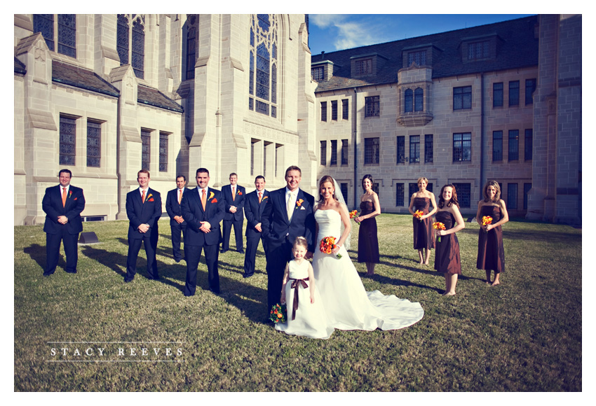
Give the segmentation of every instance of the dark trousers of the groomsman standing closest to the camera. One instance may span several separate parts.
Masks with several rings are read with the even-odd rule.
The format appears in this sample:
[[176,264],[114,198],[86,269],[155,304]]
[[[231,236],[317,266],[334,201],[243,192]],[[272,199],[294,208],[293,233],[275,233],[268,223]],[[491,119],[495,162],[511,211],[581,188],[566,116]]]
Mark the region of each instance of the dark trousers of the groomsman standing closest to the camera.
[[219,293],[219,272],[217,260],[219,259],[219,246],[213,245],[188,245],[184,244],[184,255],[187,258],[187,280],[184,283],[184,296],[192,296],[196,291],[196,270],[201,260],[201,251],[205,250],[207,262],[209,289]]

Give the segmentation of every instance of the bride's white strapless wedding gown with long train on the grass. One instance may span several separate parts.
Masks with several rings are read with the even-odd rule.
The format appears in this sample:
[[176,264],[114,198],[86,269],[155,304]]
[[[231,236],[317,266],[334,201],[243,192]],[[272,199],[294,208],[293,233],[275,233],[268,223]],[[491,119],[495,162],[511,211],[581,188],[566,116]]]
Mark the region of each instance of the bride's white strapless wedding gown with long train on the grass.
[[396,330],[420,321],[424,310],[418,302],[385,296],[379,290],[367,292],[346,248],[337,258],[320,252],[325,237],[341,236],[341,216],[334,210],[317,210],[317,246],[313,258],[316,289],[323,301],[327,320],[339,330]]

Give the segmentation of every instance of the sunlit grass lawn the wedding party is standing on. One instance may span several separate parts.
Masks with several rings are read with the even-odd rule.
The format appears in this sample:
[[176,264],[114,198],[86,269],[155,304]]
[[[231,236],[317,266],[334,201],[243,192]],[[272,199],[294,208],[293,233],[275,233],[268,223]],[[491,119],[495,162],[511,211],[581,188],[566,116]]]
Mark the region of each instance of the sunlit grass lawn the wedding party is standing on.
[[[86,223],[100,244],[79,247],[79,273],[64,272],[62,258],[48,278],[41,226],[15,227],[14,390],[582,391],[581,230],[510,221],[506,272],[491,288],[475,269],[478,225],[467,223],[458,232],[457,295],[442,297],[445,279],[432,255],[431,266],[418,265],[411,217],[383,214],[378,223],[381,263],[376,276],[363,278],[365,288],[420,302],[425,316],[402,330],[336,330],[328,340],[285,335],[264,322],[260,246],[255,276],[243,279],[243,255],[229,251],[219,256],[222,295],[203,290],[202,259],[196,295],[184,297],[186,265],[172,259],[167,221],[158,241],[162,281],[144,277],[142,250],[139,273],[126,284],[128,222]],[[352,234],[355,260],[358,225]],[[364,264],[355,265],[365,274]],[[98,346],[103,358],[84,354]],[[126,354],[118,357],[121,347]],[[139,355],[130,356],[131,347]],[[166,348],[182,355],[165,356]],[[126,362],[53,362],[114,359]]]

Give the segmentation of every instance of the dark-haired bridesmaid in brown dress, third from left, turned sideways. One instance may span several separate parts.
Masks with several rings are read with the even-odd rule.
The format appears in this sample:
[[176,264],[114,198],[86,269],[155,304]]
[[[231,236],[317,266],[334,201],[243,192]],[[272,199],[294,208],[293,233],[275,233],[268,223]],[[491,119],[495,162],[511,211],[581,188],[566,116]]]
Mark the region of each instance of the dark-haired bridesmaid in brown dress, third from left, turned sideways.
[[[445,225],[445,230],[435,230],[435,269],[445,274],[445,293],[443,296],[455,295],[457,275],[461,274],[459,258],[459,241],[455,235],[466,228],[457,202],[455,186],[445,185],[441,188],[438,211],[435,220]],[[438,239],[440,238],[440,241]]]

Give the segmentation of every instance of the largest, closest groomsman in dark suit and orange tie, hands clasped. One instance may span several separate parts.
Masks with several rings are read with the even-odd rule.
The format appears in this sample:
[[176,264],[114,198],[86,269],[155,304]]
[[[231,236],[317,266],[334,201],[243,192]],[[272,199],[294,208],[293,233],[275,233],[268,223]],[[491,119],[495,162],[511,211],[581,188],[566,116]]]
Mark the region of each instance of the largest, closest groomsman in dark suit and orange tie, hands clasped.
[[184,296],[192,296],[196,291],[196,269],[205,251],[209,289],[219,294],[219,222],[223,220],[225,202],[219,190],[209,188],[209,171],[196,170],[197,187],[187,191],[182,199],[182,217],[187,223],[184,232],[184,256],[187,260],[187,280],[184,283]]

